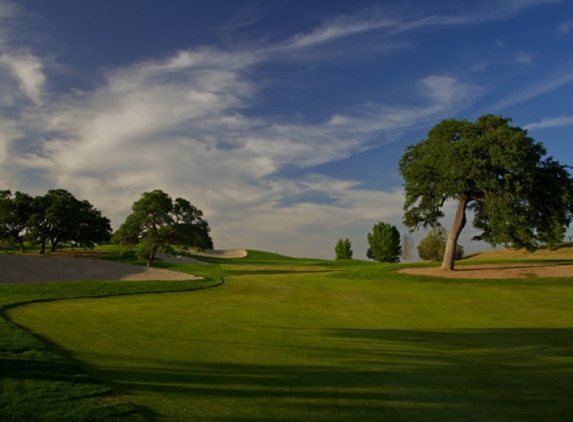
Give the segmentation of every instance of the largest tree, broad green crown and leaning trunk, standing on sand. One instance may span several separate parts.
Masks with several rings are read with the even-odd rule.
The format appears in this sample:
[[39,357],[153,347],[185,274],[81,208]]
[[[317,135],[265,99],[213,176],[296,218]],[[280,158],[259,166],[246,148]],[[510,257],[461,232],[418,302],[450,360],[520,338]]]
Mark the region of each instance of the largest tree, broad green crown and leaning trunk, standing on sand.
[[552,157],[511,119],[484,115],[475,122],[449,119],[425,140],[406,148],[400,160],[404,178],[404,224],[434,227],[447,201],[457,202],[442,262],[454,269],[456,245],[474,213],[474,239],[492,245],[535,250],[561,241],[573,211],[568,166]]

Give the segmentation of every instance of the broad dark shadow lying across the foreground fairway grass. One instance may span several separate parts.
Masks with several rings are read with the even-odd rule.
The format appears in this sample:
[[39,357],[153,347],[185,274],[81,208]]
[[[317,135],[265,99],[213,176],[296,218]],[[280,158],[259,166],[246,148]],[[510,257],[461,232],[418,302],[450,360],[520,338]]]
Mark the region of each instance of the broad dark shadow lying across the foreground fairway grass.
[[573,329],[324,329],[320,338],[324,346],[279,352],[292,364],[157,360],[88,372],[121,394],[180,400],[203,421],[573,417]]

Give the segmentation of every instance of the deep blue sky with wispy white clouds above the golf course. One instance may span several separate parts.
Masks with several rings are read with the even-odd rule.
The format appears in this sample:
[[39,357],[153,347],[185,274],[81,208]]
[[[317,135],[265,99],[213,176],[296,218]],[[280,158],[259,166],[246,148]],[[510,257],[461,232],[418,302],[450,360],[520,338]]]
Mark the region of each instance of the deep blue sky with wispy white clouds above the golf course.
[[366,259],[405,147],[489,113],[573,165],[573,1],[0,0],[0,189],[114,229],[161,189],[218,249]]

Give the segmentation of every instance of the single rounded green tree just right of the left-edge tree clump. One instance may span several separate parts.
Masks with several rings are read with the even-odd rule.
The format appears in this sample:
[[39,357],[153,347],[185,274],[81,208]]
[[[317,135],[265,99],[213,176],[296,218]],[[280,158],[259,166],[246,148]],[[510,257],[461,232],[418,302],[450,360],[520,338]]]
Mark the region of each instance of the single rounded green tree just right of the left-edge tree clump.
[[173,245],[212,249],[209,223],[203,212],[183,198],[172,200],[161,190],[144,192],[114,235],[118,243],[138,245],[138,254],[151,266],[158,250]]

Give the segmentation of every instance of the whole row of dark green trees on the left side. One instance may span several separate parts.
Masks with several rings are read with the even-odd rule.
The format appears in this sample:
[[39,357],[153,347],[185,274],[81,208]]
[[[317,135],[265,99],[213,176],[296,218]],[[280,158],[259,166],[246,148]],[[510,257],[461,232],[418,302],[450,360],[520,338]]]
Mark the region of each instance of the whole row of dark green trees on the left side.
[[143,193],[115,233],[100,210],[67,190],[52,189],[35,197],[0,191],[0,240],[17,243],[21,251],[26,243],[39,245],[43,255],[48,246],[55,252],[65,244],[93,248],[112,242],[134,246],[151,265],[157,251],[169,252],[173,246],[212,249],[210,231],[200,209],[161,190]]

